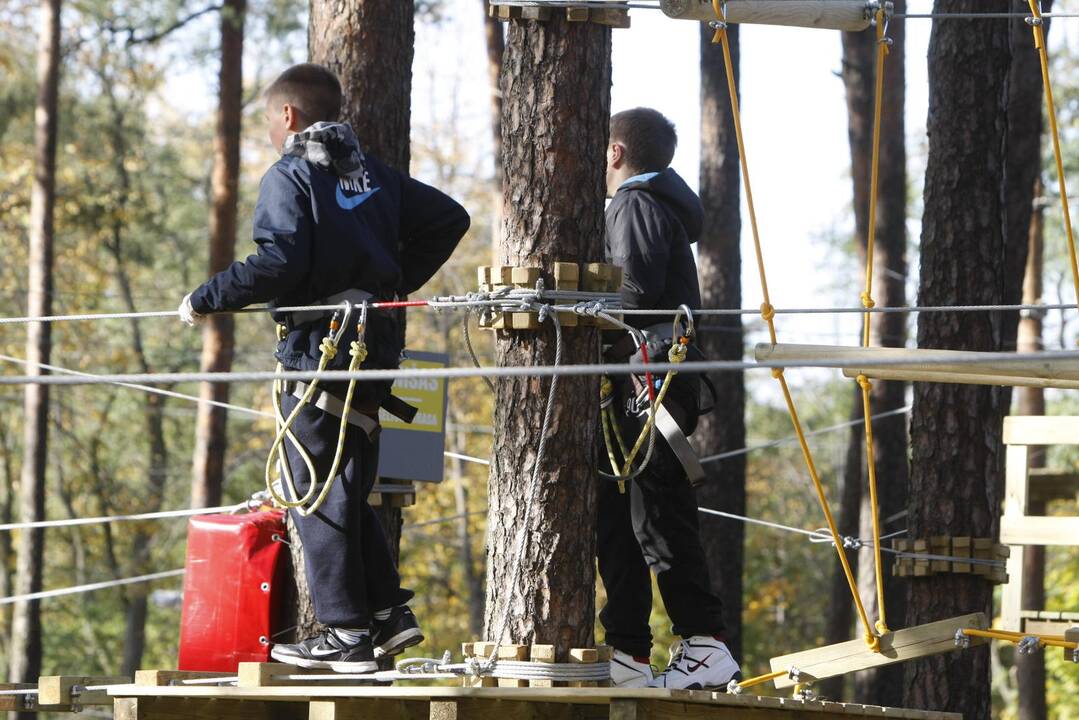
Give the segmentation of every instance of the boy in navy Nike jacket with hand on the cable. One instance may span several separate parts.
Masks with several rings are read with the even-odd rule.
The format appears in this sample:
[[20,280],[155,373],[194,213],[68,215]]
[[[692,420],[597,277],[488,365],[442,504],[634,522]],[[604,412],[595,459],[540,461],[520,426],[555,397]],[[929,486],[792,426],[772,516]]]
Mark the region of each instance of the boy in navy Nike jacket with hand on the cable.
[[[336,122],[341,84],[326,68],[293,66],[264,97],[270,140],[283,157],[259,187],[252,221],[257,253],[185,297],[181,318],[193,325],[205,314],[260,302],[358,304],[418,290],[449,259],[468,229],[468,214],[438,190],[363,152],[352,127]],[[316,369],[329,313],[275,312],[274,320],[282,325],[275,353],[282,365]],[[340,339],[345,348],[356,339],[355,323],[350,325]],[[370,353],[363,367],[397,367],[401,338],[391,313],[370,313],[366,343]],[[339,353],[328,368],[345,369],[349,361],[347,353]],[[305,405],[292,425],[319,478],[328,474],[337,448],[344,385],[319,384],[318,406]],[[388,393],[388,383],[357,383],[350,418],[358,413],[363,422],[350,420],[337,481],[317,512],[293,512],[315,616],[326,629],[275,646],[271,655],[277,661],[368,673],[375,669],[375,656],[423,640],[406,604],[412,592],[401,588],[367,502],[378,472],[378,408]],[[281,396],[284,413],[300,404],[299,395],[286,390]],[[306,465],[291,443],[286,457],[303,494],[312,483]]]

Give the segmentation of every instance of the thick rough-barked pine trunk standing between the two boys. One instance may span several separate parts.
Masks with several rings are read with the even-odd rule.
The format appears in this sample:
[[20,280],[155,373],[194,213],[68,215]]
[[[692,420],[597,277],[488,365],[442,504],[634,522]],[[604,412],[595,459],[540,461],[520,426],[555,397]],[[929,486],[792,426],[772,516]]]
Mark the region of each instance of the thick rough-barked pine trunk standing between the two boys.
[[[510,23],[503,66],[503,199],[498,262],[545,269],[603,255],[603,196],[611,110],[611,29],[569,23]],[[498,365],[548,365],[549,323],[498,331]],[[565,363],[597,359],[597,331],[564,331]],[[486,634],[506,627],[515,643],[592,643],[596,617],[596,432],[599,379],[563,377],[547,431],[548,451],[533,485],[550,379],[495,383],[489,479]],[[528,516],[527,507],[532,512]],[[528,516],[528,517],[527,517]],[[523,533],[523,534],[522,534]],[[514,572],[523,543],[519,573]]]

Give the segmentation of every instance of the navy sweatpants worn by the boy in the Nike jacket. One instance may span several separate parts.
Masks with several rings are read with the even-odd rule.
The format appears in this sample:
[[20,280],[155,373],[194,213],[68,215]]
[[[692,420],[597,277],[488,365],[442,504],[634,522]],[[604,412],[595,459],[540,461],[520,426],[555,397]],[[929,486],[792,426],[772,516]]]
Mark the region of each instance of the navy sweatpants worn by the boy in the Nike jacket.
[[[282,397],[285,417],[299,402],[291,395]],[[319,480],[326,478],[333,463],[340,423],[340,418],[308,405],[292,424],[292,433],[314,461]],[[302,497],[311,487],[311,478],[296,447],[290,441],[286,447],[292,478]],[[372,612],[412,598],[413,593],[400,586],[382,524],[367,503],[378,468],[378,438],[369,440],[363,430],[349,425],[337,481],[322,507],[308,517],[291,511],[303,542],[315,617],[324,625],[370,627]],[[319,487],[315,497],[320,491]]]

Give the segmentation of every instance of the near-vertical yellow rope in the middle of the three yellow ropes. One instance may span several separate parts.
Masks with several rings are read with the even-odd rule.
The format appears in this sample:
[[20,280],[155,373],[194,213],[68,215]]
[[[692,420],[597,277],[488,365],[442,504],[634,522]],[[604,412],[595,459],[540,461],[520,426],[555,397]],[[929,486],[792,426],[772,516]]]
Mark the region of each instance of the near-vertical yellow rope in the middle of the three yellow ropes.
[[[873,157],[870,171],[870,217],[869,230],[865,237],[865,290],[862,293],[862,307],[866,311],[872,310],[876,302],[873,300],[873,250],[876,246],[876,209],[877,196],[879,193],[880,177],[880,114],[884,107],[884,67],[888,57],[888,15],[882,6],[876,13],[876,87],[873,99]],[[862,347],[870,347],[870,335],[873,315],[865,312],[862,316]],[[864,375],[856,378],[858,386],[862,391],[862,417],[865,419],[865,464],[869,470],[870,485],[870,514],[873,518],[873,562],[876,575],[877,592],[877,622],[876,630],[880,635],[888,633],[888,622],[885,614],[884,603],[884,567],[880,557],[880,510],[877,504],[877,477],[876,457],[873,451],[873,383]]]

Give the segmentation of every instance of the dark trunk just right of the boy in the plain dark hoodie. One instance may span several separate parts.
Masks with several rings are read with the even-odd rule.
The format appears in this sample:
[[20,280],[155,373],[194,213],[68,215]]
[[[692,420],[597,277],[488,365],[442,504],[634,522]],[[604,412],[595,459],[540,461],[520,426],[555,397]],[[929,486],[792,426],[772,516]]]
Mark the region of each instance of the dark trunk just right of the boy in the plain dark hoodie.
[[[730,116],[723,53],[712,44],[713,30],[700,28],[700,202],[705,233],[697,243],[701,304],[741,307],[741,185],[738,141]],[[738,26],[727,30],[730,60],[738,74]],[[709,359],[740,361],[745,350],[740,315],[698,321],[700,349]],[[702,416],[694,433],[701,456],[746,447],[746,383],[743,372],[716,372],[715,410]],[[746,514],[746,456],[707,463],[708,480],[697,489],[702,507]],[[723,600],[727,646],[735,657],[742,648],[742,568],[746,527],[741,522],[702,518],[700,542],[708,558],[712,587]]]

